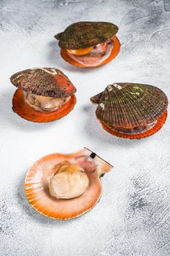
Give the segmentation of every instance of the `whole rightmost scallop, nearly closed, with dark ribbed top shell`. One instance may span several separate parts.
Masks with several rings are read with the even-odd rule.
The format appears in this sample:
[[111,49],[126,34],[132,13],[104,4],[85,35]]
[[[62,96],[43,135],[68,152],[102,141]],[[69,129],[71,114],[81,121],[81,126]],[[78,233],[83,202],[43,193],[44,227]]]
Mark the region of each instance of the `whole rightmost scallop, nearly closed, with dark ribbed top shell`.
[[113,83],[90,99],[104,129],[122,138],[147,137],[166,121],[168,99],[155,86]]

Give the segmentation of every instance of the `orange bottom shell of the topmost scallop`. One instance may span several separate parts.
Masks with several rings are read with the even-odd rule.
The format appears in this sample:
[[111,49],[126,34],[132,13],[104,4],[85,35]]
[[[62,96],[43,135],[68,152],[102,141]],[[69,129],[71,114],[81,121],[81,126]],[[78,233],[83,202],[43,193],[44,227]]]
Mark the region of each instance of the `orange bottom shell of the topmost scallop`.
[[[101,65],[107,64],[109,61],[112,61],[112,59],[115,59],[117,54],[120,52],[120,41],[119,41],[119,39],[116,36],[113,36],[112,41],[114,42],[114,47],[112,48],[112,52],[110,53],[110,55],[108,56],[107,59],[105,59],[103,62],[96,65],[95,67],[99,67]],[[72,59],[72,57],[69,56],[69,54],[67,53],[66,49],[61,48],[61,56],[63,57],[63,59],[65,61],[69,62],[69,64],[72,64],[74,66],[77,66],[77,67],[91,67],[90,65],[88,66],[87,64],[85,64],[85,65],[80,64],[79,62]]]

